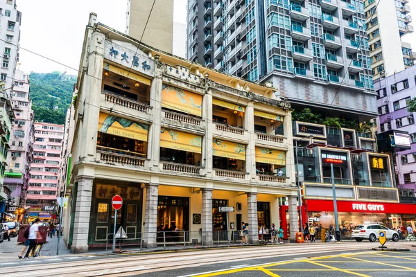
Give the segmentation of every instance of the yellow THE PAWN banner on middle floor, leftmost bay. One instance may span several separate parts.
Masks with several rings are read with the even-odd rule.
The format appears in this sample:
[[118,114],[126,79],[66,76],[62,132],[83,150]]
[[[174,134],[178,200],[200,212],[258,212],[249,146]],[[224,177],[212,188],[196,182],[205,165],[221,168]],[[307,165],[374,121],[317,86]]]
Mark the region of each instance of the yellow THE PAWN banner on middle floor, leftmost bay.
[[148,125],[134,122],[130,119],[100,113],[98,118],[98,132],[123,136],[138,141],[148,141]]

